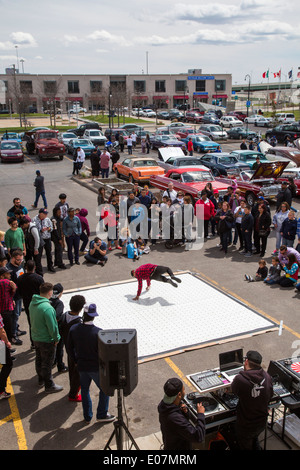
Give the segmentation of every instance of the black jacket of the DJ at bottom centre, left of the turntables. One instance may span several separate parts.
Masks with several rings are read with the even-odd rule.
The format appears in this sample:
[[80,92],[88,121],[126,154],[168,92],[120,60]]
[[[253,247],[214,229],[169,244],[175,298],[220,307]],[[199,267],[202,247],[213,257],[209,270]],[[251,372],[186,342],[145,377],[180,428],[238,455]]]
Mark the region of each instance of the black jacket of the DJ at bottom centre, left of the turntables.
[[189,412],[186,415],[177,405],[167,405],[161,401],[158,413],[164,450],[190,450],[192,443],[203,441],[205,437],[203,413],[198,414],[195,426],[189,421]]

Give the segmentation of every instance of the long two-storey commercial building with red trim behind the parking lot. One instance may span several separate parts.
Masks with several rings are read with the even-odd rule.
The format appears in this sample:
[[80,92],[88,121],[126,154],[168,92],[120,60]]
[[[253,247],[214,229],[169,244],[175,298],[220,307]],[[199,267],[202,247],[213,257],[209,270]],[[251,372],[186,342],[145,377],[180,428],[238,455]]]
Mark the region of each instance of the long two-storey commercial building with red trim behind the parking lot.
[[159,75],[33,75],[8,69],[0,74],[0,87],[0,109],[13,112],[43,112],[53,103],[63,112],[75,103],[89,111],[109,106],[170,109],[182,104],[196,107],[199,102],[226,106],[232,77],[203,74],[200,69]]

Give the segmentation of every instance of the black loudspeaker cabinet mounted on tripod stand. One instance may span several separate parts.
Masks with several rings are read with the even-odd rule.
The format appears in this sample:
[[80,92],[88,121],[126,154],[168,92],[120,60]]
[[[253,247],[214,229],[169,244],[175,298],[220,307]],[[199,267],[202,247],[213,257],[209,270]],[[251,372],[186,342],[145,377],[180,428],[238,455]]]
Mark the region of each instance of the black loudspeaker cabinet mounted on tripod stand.
[[100,386],[108,396],[115,390],[130,395],[138,383],[136,330],[100,330],[98,333]]

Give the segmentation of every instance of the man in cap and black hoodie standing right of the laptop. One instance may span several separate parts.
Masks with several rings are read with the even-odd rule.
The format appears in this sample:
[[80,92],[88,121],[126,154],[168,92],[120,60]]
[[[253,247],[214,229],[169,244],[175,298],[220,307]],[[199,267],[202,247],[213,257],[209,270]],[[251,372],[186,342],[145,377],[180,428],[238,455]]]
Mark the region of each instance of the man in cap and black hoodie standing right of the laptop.
[[239,398],[236,437],[241,450],[260,450],[259,435],[265,431],[268,405],[273,396],[272,379],[262,368],[258,351],[248,351],[244,361],[244,370],[231,384],[232,392]]

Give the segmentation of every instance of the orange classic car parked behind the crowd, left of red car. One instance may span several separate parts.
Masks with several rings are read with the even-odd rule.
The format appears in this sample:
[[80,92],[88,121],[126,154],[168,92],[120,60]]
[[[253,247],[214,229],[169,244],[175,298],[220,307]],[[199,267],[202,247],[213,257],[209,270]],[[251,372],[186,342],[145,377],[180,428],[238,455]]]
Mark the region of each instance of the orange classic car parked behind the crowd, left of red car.
[[128,157],[122,162],[114,165],[117,178],[124,177],[129,182],[149,181],[151,175],[163,175],[164,169],[159,166],[154,158],[148,157]]

